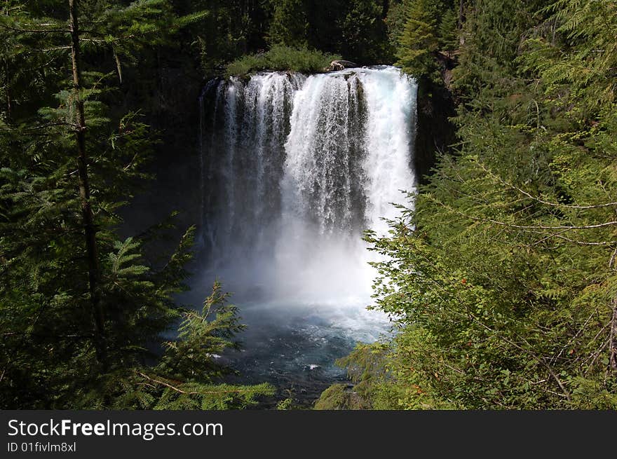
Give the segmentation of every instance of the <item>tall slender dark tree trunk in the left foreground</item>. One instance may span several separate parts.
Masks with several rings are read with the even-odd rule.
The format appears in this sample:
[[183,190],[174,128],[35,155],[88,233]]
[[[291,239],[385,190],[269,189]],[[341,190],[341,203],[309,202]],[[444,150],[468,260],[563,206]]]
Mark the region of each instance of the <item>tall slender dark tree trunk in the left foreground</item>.
[[75,135],[77,140],[77,170],[79,176],[79,198],[83,216],[83,230],[86,235],[86,257],[88,259],[88,287],[90,305],[94,319],[94,345],[97,359],[107,366],[107,343],[105,340],[104,317],[100,294],[100,266],[96,241],[96,227],[92,206],[90,205],[90,185],[88,184],[88,156],[86,154],[86,116],[81,99],[81,69],[79,49],[79,23],[77,0],[69,0],[71,16],[71,55],[73,64],[73,97],[76,110]]

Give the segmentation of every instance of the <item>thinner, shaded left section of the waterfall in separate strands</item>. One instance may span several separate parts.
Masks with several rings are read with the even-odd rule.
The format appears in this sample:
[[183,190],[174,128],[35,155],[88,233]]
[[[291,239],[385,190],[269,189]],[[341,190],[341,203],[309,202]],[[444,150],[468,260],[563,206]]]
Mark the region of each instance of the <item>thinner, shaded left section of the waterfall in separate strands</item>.
[[303,80],[279,73],[248,82],[230,78],[210,94],[214,127],[203,152],[210,204],[203,234],[217,268],[234,259],[257,261],[275,242],[291,100]]

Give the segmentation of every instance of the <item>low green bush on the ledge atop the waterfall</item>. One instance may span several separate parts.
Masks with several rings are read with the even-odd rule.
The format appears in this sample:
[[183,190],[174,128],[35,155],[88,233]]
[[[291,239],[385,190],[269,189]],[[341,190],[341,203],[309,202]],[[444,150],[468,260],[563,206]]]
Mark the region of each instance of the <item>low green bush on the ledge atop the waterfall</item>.
[[340,58],[306,48],[275,45],[267,53],[248,55],[231,62],[226,73],[229,76],[243,76],[261,70],[316,73],[326,71],[332,60]]

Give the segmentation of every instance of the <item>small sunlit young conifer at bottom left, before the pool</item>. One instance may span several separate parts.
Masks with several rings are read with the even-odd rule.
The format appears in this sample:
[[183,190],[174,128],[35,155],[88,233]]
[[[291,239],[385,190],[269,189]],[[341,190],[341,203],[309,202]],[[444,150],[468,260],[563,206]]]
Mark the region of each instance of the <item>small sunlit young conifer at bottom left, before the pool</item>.
[[[258,397],[273,395],[268,384],[229,385],[219,381],[232,370],[217,362],[243,329],[237,310],[226,304],[218,282],[204,301],[201,312],[182,310],[179,335],[165,342],[165,352],[156,366],[136,366],[126,374],[116,374],[104,388],[119,409],[243,409],[256,404]],[[111,385],[121,378],[123,386]],[[100,389],[93,397],[101,397]],[[97,403],[86,395],[90,404]]]

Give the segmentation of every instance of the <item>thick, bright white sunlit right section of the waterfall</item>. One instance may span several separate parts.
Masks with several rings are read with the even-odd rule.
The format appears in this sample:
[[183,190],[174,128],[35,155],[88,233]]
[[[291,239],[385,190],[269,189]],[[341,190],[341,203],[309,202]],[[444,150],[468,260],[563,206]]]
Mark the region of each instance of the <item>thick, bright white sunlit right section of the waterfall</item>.
[[[416,85],[394,67],[314,75],[294,97],[285,143],[278,287],[297,301],[365,305],[374,272],[361,240],[386,233],[412,191]],[[295,294],[294,294],[295,292]]]

